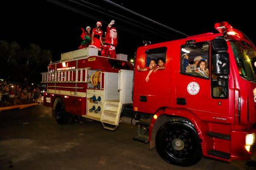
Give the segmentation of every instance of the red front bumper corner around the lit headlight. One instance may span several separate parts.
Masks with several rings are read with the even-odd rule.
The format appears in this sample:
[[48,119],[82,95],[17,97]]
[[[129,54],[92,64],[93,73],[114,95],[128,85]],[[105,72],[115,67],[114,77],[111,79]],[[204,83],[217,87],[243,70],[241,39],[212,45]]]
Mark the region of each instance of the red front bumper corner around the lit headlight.
[[251,156],[256,153],[256,143],[250,145],[249,151],[246,149],[246,135],[256,134],[256,129],[233,130],[231,132],[231,159],[233,160],[250,160]]

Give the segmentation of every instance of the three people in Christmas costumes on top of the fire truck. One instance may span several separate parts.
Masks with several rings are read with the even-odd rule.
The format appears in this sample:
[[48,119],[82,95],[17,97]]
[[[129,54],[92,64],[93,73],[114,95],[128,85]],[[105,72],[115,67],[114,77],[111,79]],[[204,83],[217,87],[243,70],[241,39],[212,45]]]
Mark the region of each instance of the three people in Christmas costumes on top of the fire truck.
[[83,41],[78,48],[83,49],[86,47],[93,47],[98,49],[100,55],[103,57],[116,58],[117,32],[116,28],[112,26],[114,23],[115,21],[111,20],[108,24],[105,36],[103,36],[102,22],[100,21],[96,23],[92,33],[90,33],[90,26],[86,27],[86,31],[84,28],[81,28],[81,39]]

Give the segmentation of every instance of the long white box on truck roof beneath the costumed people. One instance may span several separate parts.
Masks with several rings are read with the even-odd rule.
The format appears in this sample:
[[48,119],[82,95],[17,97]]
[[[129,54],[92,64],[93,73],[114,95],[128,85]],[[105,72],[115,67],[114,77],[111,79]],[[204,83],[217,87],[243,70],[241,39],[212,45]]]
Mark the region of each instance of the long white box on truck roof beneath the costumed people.
[[65,52],[61,54],[61,60],[71,59],[71,58],[77,58],[77,57],[89,57],[93,55],[98,55],[98,49],[96,48],[83,48],[78,49],[72,52]]

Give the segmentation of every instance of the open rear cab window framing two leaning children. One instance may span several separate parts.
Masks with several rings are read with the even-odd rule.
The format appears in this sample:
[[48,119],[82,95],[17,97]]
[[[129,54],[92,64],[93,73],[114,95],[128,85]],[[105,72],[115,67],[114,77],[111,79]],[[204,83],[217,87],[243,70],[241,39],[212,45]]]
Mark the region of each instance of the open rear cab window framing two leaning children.
[[[149,66],[150,60],[155,59],[157,62],[159,60],[164,60],[163,62],[166,63],[166,47],[160,47],[156,49],[148,49],[146,53],[146,66]],[[165,65],[165,64],[164,64]]]

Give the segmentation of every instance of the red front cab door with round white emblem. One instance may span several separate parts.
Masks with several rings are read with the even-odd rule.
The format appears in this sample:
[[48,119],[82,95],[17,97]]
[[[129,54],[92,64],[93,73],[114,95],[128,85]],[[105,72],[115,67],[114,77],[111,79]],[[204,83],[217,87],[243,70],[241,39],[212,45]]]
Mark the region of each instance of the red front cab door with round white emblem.
[[180,46],[180,73],[176,79],[176,107],[189,109],[201,120],[232,122],[232,77],[212,73],[210,42]]

